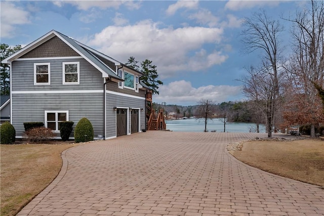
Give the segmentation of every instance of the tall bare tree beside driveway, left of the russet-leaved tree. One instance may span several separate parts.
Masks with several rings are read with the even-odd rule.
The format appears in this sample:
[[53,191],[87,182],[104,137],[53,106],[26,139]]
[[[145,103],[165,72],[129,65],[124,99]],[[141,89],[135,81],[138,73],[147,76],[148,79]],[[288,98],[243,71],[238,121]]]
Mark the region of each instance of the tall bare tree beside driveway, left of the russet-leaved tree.
[[[260,96],[260,101],[263,102],[266,130],[268,137],[271,137],[274,113],[280,98],[279,76],[281,74],[278,68],[282,48],[279,48],[278,37],[283,27],[278,21],[271,20],[264,11],[245,19],[244,25],[246,29],[242,31],[242,42],[245,44],[245,53],[260,50],[263,54],[260,69],[257,73],[253,73],[253,76],[258,82],[256,91]],[[248,77],[252,78],[250,75]]]

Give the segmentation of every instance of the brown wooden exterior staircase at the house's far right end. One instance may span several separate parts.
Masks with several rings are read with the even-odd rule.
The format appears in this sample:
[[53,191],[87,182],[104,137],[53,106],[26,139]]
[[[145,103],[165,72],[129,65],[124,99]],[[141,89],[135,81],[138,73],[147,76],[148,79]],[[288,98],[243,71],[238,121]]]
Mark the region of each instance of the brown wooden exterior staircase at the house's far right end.
[[157,131],[167,129],[167,125],[164,119],[163,109],[160,109],[158,114],[155,113],[152,104],[152,92],[146,93],[146,120],[147,131]]

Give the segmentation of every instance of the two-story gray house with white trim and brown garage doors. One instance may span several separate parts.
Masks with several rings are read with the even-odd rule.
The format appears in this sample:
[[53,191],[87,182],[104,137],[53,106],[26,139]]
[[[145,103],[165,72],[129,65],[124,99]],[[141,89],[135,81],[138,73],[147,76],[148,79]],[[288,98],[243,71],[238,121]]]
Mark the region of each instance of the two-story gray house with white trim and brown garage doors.
[[58,133],[60,121],[74,121],[75,127],[86,117],[95,137],[104,139],[146,128],[149,88],[140,82],[143,74],[73,38],[52,30],[3,63],[11,68],[10,121],[16,138],[30,121]]

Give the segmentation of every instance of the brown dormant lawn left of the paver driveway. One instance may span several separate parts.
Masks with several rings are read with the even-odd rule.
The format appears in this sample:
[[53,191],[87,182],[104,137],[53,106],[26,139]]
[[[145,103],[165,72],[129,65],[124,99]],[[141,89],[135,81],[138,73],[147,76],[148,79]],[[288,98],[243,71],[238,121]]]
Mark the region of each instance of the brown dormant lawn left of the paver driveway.
[[58,175],[61,153],[75,144],[1,145],[0,215],[16,215]]

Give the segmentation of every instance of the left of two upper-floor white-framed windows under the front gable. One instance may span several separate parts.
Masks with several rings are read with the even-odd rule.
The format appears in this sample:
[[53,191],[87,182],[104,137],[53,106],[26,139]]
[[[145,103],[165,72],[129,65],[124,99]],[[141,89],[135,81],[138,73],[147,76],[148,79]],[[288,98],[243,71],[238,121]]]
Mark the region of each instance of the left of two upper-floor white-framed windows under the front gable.
[[34,84],[49,85],[51,83],[51,64],[34,63]]

